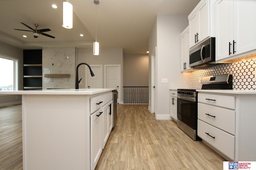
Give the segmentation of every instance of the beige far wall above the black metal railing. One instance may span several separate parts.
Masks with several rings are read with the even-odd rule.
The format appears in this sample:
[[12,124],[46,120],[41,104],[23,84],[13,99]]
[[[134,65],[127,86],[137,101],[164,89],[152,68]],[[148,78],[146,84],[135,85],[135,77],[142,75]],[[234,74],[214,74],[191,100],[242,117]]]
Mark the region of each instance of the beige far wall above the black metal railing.
[[148,55],[124,54],[124,86],[148,86]]

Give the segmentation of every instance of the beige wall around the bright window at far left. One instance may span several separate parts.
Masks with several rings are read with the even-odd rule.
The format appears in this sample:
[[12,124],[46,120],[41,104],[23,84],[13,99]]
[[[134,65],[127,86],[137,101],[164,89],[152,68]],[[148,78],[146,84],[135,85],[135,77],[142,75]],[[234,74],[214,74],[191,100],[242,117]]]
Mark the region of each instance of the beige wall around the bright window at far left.
[[[0,55],[18,59],[18,89],[23,89],[23,50],[0,42]],[[0,96],[0,107],[20,104],[21,95]]]

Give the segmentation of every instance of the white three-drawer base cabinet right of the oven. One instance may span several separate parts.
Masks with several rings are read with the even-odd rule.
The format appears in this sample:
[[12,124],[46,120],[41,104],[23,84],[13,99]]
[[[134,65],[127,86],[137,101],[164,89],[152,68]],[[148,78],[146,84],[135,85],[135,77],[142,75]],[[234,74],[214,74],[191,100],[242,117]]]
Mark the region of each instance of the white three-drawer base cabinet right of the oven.
[[256,160],[256,94],[198,90],[198,136],[229,161]]

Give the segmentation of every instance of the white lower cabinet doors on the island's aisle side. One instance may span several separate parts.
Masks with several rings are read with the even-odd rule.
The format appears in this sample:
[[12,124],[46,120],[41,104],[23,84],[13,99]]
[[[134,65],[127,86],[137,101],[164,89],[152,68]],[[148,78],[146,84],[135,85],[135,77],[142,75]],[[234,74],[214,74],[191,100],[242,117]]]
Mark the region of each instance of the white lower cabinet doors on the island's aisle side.
[[[110,100],[110,98],[106,100]],[[113,100],[111,98],[110,102],[90,115],[91,170],[96,167],[113,127],[112,105]]]

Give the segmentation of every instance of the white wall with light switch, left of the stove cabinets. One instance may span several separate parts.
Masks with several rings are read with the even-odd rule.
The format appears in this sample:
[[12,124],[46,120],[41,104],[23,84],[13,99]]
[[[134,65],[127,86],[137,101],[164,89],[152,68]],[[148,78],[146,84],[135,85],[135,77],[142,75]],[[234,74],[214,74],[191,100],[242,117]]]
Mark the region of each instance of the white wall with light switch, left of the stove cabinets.
[[[156,35],[150,34],[150,50],[155,36],[157,46],[156,119],[171,119],[170,88],[191,88],[191,73],[180,72],[180,33],[187,26],[186,15],[158,15],[156,28],[152,29]],[[162,78],[168,78],[168,83],[162,83]]]

